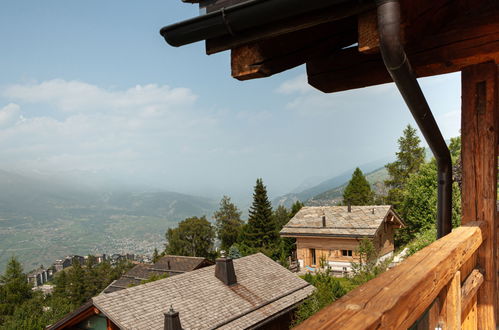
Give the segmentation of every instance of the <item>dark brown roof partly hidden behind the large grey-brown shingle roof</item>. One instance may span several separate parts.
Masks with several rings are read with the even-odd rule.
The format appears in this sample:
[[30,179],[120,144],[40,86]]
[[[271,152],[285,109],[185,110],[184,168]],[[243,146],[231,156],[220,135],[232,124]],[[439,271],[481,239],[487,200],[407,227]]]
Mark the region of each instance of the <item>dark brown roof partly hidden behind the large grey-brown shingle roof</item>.
[[153,275],[174,276],[211,265],[213,262],[206,258],[167,255],[152,265],[138,264],[134,266],[119,279],[113,281],[104,289],[103,293],[111,293],[138,285]]

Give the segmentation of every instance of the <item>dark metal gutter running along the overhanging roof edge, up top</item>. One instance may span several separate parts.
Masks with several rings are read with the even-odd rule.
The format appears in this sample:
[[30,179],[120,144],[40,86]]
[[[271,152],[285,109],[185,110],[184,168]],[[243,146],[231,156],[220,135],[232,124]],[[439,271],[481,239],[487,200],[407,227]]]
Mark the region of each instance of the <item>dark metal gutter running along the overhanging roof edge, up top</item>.
[[[235,36],[244,30],[335,5],[345,3],[358,5],[365,2],[365,0],[249,0],[165,26],[160,30],[160,34],[168,44],[178,47],[206,39]],[[359,7],[359,11],[362,10],[365,10],[365,7]],[[351,13],[353,14],[355,13]]]

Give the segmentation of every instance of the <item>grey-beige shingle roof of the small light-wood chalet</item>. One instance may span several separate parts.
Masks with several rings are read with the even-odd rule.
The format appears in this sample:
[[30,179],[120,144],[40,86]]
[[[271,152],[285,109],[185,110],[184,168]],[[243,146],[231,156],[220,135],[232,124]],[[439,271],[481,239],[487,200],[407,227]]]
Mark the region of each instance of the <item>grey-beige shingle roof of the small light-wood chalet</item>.
[[352,206],[351,212],[348,206],[305,206],[283,227],[281,235],[371,237],[388,214],[401,223],[390,205]]

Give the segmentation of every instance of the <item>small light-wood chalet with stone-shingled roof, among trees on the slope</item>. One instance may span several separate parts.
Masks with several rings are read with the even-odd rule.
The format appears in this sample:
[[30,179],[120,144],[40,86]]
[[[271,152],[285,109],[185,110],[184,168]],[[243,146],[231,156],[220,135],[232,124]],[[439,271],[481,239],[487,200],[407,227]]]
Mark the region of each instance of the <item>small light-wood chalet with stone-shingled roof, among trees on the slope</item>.
[[389,205],[305,206],[281,230],[296,238],[300,267],[316,268],[323,259],[335,272],[351,270],[363,238],[373,240],[379,258],[393,255],[395,230],[403,222]]

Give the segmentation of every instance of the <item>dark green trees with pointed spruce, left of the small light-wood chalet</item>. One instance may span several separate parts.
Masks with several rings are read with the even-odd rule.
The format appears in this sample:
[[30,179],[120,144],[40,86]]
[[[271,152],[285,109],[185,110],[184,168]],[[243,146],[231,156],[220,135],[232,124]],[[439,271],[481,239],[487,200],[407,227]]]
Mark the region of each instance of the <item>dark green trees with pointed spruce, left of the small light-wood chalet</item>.
[[295,240],[281,238],[279,231],[301,209],[303,204],[295,202],[291,209],[280,205],[275,210],[267,195],[267,188],[261,178],[256,180],[253,202],[248,221],[241,219],[242,212],[223,196],[219,209],[213,214],[214,224],[202,217],[190,217],[181,221],[176,228],[166,232],[166,246],[162,254],[215,258],[215,239],[220,250],[230,257],[240,257],[262,252],[274,260],[285,260],[294,251]]

